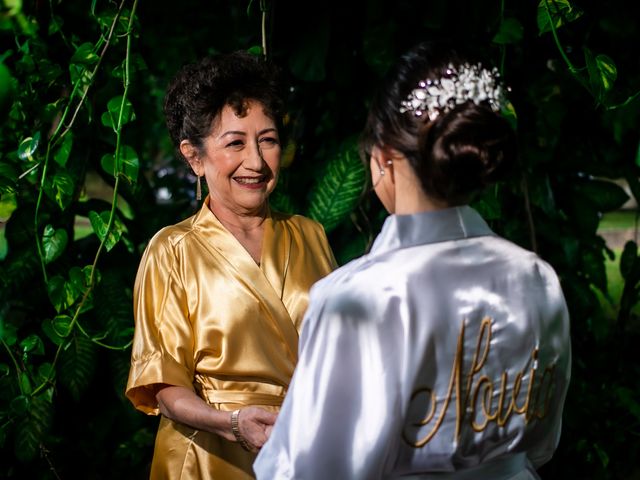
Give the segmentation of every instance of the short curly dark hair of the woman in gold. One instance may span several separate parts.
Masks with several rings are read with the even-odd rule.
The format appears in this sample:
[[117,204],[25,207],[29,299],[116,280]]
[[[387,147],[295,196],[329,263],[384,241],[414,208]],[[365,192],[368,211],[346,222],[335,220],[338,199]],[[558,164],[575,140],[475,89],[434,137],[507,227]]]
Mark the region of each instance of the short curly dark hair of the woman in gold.
[[278,69],[245,51],[217,54],[182,67],[170,82],[164,99],[169,135],[176,147],[188,140],[202,148],[214,119],[225,105],[238,115],[246,104],[262,104],[265,114],[281,126],[283,100]]

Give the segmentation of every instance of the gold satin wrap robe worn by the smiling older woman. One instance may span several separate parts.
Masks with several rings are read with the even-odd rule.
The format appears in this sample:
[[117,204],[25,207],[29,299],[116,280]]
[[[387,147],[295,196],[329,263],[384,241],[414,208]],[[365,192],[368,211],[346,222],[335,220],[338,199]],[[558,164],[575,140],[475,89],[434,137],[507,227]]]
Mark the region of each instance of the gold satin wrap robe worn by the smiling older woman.
[[[149,242],[134,291],[126,395],[158,415],[160,384],[193,389],[212,408],[277,411],[297,362],[313,283],[336,263],[322,226],[270,213],[258,266],[209,209]],[[255,454],[162,416],[151,478],[254,478]]]

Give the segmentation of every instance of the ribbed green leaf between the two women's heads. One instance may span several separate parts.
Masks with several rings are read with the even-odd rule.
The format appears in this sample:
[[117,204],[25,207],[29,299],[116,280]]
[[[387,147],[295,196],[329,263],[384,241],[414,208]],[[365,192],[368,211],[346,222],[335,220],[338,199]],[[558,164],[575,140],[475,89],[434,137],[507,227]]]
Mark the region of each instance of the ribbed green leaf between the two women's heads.
[[308,216],[322,223],[326,232],[333,230],[358,204],[365,176],[356,142],[348,141],[312,189]]

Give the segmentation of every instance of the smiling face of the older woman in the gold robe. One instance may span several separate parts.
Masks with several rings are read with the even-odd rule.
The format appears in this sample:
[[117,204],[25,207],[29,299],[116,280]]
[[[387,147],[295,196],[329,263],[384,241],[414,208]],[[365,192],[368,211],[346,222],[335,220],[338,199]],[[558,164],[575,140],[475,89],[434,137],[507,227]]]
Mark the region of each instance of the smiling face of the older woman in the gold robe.
[[264,214],[280,169],[276,124],[260,103],[249,102],[244,117],[226,105],[196,164],[190,163],[206,178],[212,208],[242,216]]

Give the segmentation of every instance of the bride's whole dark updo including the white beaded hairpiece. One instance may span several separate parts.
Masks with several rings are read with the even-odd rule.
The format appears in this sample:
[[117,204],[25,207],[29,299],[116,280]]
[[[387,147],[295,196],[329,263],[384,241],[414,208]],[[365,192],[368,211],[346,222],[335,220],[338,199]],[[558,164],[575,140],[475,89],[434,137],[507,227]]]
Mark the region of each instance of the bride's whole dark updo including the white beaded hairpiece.
[[515,163],[515,132],[500,115],[505,104],[497,70],[446,44],[421,43],[387,74],[361,146],[401,152],[429,197],[465,204]]

